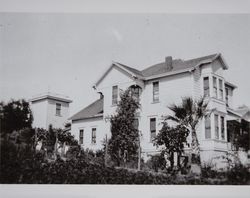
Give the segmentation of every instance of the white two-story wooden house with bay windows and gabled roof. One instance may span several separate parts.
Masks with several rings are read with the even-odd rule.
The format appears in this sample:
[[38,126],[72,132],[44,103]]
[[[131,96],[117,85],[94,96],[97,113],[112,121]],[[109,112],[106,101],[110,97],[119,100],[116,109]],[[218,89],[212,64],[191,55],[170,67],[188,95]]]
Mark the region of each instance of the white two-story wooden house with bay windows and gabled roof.
[[212,113],[199,123],[197,134],[201,160],[210,162],[230,150],[226,123],[236,116],[232,107],[236,86],[224,78],[227,69],[221,54],[191,60],[169,56],[141,71],[113,62],[93,86],[100,99],[70,118],[71,131],[82,147],[102,148],[106,135],[111,135],[107,118],[116,110],[119,93],[132,88],[141,104],[137,123],[142,153],[149,156],[157,151],[152,139],[161,129],[162,116],[172,113],[168,106],[180,103],[186,96],[195,100],[205,96]]

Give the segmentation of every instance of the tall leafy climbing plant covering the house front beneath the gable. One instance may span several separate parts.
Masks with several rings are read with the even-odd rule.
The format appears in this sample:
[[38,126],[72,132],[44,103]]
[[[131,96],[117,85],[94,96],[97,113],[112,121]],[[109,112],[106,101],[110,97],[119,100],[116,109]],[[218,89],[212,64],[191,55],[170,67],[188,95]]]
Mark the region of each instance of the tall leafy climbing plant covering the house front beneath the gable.
[[116,114],[110,117],[111,139],[108,151],[111,159],[117,166],[121,162],[131,161],[135,158],[138,150],[139,131],[134,126],[135,114],[139,109],[138,100],[133,97],[131,90],[120,94]]

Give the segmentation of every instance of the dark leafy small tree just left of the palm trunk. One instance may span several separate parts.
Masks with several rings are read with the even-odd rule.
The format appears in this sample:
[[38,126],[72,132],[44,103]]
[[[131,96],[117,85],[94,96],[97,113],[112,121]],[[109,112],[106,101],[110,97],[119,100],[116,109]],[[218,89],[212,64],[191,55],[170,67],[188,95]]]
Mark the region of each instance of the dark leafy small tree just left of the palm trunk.
[[189,131],[182,125],[170,127],[164,120],[163,126],[156,136],[154,143],[157,146],[164,146],[162,154],[168,155],[168,160],[171,164],[171,169],[174,166],[174,153],[178,154],[178,167],[180,168],[180,156],[184,152],[184,144],[187,142]]

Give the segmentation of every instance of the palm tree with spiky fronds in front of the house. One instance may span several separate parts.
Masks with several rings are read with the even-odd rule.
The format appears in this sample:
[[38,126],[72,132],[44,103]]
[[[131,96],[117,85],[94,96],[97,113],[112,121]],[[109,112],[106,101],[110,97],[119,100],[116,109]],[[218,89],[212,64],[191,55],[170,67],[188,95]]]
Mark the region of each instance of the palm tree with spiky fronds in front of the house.
[[[204,98],[194,101],[191,97],[182,98],[180,105],[172,104],[169,109],[173,111],[173,116],[168,116],[168,120],[175,121],[176,123],[185,126],[191,132],[192,155],[191,155],[191,171],[192,165],[198,165],[197,171],[200,172],[200,147],[197,138],[196,127],[199,121],[207,114],[207,103]],[[196,166],[197,168],[197,166]]]

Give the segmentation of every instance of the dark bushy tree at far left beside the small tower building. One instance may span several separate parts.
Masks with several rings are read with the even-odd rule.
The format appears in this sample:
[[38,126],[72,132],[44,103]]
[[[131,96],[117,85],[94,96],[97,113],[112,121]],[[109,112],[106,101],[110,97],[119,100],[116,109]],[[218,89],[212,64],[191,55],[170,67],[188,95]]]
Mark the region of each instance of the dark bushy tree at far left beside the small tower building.
[[24,128],[32,128],[33,116],[29,103],[25,100],[12,100],[0,103],[1,133],[10,134]]

